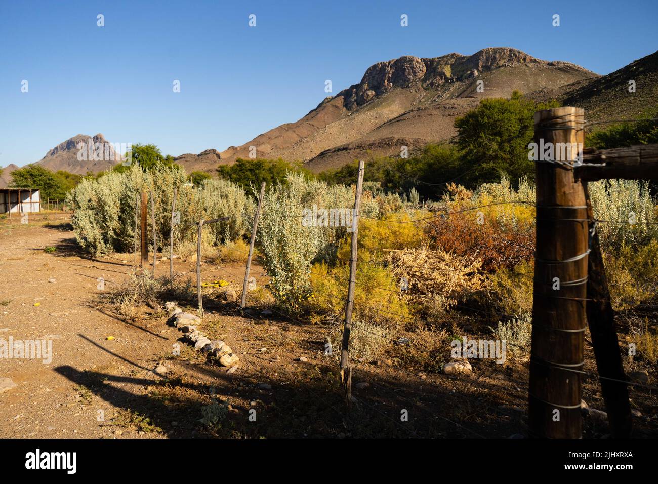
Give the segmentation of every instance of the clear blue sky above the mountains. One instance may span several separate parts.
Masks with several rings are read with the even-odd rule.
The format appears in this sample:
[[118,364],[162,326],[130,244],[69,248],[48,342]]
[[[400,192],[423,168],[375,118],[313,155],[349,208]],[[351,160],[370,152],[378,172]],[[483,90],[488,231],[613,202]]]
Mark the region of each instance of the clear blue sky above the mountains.
[[78,133],[221,151],[401,55],[516,47],[607,74],[658,48],[657,20],[657,0],[0,0],[0,166]]

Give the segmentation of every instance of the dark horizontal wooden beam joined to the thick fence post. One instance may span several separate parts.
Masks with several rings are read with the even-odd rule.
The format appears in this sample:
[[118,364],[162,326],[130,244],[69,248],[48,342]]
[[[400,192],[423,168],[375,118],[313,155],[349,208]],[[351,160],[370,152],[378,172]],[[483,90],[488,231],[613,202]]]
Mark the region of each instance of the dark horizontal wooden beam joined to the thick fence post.
[[658,179],[658,144],[613,149],[583,149],[583,164],[575,168],[576,178],[595,182],[608,178],[624,180]]

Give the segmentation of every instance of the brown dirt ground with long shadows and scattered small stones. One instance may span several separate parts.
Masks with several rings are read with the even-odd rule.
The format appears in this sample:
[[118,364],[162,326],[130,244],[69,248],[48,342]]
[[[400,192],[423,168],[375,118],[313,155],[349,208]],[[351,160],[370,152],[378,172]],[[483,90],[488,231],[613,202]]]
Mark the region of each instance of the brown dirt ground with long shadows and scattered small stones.
[[[236,371],[226,373],[166,325],[164,309],[144,308],[130,321],[113,313],[97,279],[103,277],[110,290],[128,277],[134,255],[82,254],[68,217],[39,214],[28,225],[18,217],[0,221],[0,338],[53,341],[49,363],[0,360],[0,382],[7,387],[0,385],[0,437],[527,435],[527,363],[476,361],[472,374],[462,377],[422,372],[393,356],[356,363],[348,413],[338,360],[324,356],[326,329],[276,312],[264,317],[263,307],[241,313],[208,300],[201,331],[224,340],[240,357]],[[47,247],[55,250],[46,252]],[[177,259],[175,269],[193,278],[193,261]],[[156,271],[168,273],[168,261]],[[253,273],[261,271],[253,267]],[[220,278],[240,292],[243,265],[203,264],[203,280]],[[259,286],[266,282],[262,276],[257,280]],[[196,313],[190,306],[186,310]],[[178,356],[172,351],[176,343]],[[586,348],[586,371],[594,373],[589,336]],[[158,365],[167,371],[156,372]],[[596,379],[584,379],[584,400],[605,410],[600,391]],[[632,388],[630,395],[640,412],[635,437],[658,437],[655,390]],[[211,430],[201,419],[215,398],[228,407],[221,425]],[[605,422],[584,422],[586,438],[608,432]]]

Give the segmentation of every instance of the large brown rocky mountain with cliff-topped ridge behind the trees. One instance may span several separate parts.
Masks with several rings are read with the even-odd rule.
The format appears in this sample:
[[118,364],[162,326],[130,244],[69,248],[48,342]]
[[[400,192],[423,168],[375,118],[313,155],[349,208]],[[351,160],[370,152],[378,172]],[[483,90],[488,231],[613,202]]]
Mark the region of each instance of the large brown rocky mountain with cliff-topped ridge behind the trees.
[[[250,146],[258,157],[303,161],[315,172],[368,153],[395,155],[401,146],[413,150],[450,138],[455,117],[476,107],[482,97],[553,90],[598,77],[582,67],[542,61],[509,47],[427,59],[407,55],[371,66],[361,82],[327,97],[299,121],[222,151],[219,164],[248,158]],[[191,158],[182,164],[188,171],[211,171]]]

